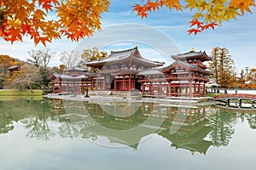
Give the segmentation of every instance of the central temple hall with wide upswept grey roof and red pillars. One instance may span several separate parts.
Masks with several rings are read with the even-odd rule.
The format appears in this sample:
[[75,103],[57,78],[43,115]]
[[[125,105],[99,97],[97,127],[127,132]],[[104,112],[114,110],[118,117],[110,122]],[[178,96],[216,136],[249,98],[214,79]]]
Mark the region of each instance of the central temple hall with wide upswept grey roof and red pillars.
[[144,59],[135,47],[122,51],[111,51],[107,58],[90,61],[85,65],[99,70],[97,77],[94,78],[96,89],[130,91],[141,89],[137,73],[164,64],[164,62]]

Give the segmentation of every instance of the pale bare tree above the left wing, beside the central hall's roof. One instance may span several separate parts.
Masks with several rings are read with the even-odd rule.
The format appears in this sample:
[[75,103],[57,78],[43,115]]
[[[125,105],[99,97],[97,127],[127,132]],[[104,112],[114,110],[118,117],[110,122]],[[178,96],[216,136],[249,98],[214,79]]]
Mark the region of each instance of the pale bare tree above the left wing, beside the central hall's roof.
[[74,67],[79,64],[81,57],[78,53],[74,51],[64,51],[61,53],[61,62],[63,65],[66,65],[67,68]]

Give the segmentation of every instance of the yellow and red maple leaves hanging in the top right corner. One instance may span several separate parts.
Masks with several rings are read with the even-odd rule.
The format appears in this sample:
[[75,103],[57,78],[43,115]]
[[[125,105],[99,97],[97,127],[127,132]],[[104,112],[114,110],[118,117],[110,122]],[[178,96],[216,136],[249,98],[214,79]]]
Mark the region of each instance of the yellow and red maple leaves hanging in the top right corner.
[[250,7],[254,7],[254,0],[184,0],[184,5],[179,0],[148,0],[143,5],[135,4],[133,10],[137,15],[147,18],[148,13],[160,10],[162,7],[169,8],[171,11],[176,9],[183,12],[189,9],[190,12],[197,11],[192,16],[189,34],[206,31],[215,26],[221,26],[223,20],[235,19],[238,15],[243,15],[245,11],[252,13]]

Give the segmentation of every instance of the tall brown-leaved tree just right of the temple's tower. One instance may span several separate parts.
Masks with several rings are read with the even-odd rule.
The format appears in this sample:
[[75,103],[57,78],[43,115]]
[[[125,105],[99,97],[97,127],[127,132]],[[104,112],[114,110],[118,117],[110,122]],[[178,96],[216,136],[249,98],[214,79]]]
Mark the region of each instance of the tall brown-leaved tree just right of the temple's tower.
[[213,77],[221,88],[228,88],[232,76],[234,61],[231,59],[227,48],[213,48],[212,61],[209,68],[213,71]]

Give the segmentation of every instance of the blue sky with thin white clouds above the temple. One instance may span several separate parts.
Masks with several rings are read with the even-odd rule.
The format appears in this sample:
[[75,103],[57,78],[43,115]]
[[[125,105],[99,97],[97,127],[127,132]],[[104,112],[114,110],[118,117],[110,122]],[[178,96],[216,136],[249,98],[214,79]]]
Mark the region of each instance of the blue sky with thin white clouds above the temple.
[[[63,37],[48,43],[47,48],[56,54],[49,65],[60,65],[60,54],[63,51],[81,52],[83,48],[96,47],[109,54],[111,50],[137,46],[144,58],[165,61],[166,65],[172,63],[171,55],[186,53],[191,48],[206,51],[208,55],[211,55],[214,47],[228,48],[237,71],[245,67],[256,67],[256,8],[252,8],[253,14],[246,13],[243,17],[237,17],[238,20],[224,22],[223,26],[216,27],[214,31],[204,31],[194,36],[187,32],[193,15],[189,11],[171,12],[162,8],[142,20],[132,12],[132,5],[140,2],[112,0],[108,13],[102,14],[102,31],[79,42]],[[28,51],[42,48],[44,46],[41,44],[35,46],[29,37],[13,44],[0,40],[0,54],[22,60],[29,58]]]

